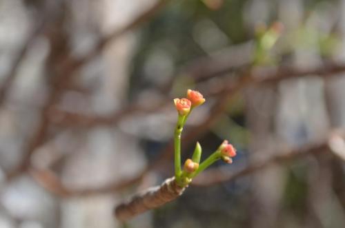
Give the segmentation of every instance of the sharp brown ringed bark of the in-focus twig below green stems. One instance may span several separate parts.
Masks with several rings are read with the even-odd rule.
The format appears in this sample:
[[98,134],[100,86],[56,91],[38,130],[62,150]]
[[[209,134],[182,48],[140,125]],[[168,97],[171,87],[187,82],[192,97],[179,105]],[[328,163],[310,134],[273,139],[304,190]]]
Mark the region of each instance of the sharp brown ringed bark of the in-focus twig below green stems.
[[149,209],[155,209],[175,200],[181,196],[184,189],[176,184],[175,178],[168,178],[160,186],[151,187],[133,196],[128,202],[118,205],[115,208],[115,216],[121,221],[129,220]]

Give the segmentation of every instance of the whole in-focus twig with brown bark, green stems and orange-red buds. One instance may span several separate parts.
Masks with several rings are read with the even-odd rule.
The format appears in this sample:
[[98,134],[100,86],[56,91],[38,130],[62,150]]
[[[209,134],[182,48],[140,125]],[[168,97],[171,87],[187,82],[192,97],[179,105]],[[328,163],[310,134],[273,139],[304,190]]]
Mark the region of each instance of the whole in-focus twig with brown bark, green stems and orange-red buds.
[[174,134],[175,147],[175,176],[168,178],[160,186],[146,189],[128,201],[121,203],[115,208],[115,216],[118,220],[126,221],[149,209],[160,207],[183,194],[184,190],[192,182],[193,178],[203,172],[204,169],[221,159],[226,163],[233,163],[233,157],[236,156],[236,149],[224,140],[223,143],[200,163],[201,145],[196,143],[192,158],[188,158],[183,168],[181,168],[181,134],[188,116],[193,109],[202,105],[206,100],[204,96],[195,91],[188,90],[187,97],[174,99],[175,107],[178,113],[177,124]]

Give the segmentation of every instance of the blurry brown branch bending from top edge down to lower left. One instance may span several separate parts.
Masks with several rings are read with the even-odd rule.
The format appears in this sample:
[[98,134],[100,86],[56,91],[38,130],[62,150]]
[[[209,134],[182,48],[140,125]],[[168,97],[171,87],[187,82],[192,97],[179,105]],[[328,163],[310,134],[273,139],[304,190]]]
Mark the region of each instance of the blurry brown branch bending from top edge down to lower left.
[[[40,122],[37,125],[37,129],[36,132],[34,132],[32,138],[28,141],[28,145],[26,147],[26,149],[23,152],[23,158],[21,160],[21,162],[19,163],[19,165],[17,167],[14,167],[14,169],[12,169],[7,175],[6,175],[6,179],[7,180],[11,180],[12,178],[15,178],[21,174],[23,174],[23,172],[26,172],[28,170],[28,167],[30,167],[30,157],[32,156],[32,154],[34,153],[35,149],[37,149],[37,147],[41,146],[44,141],[45,138],[47,136],[48,133],[48,128],[50,125],[50,114],[52,114],[52,107],[54,107],[54,105],[59,101],[59,97],[61,96],[61,94],[63,93],[63,90],[68,87],[68,85],[70,84],[70,82],[73,79],[73,76],[75,76],[75,72],[77,70],[79,70],[79,68],[81,68],[81,66],[83,66],[84,64],[88,63],[88,61],[90,61],[90,59],[92,59],[94,56],[96,56],[101,50],[103,50],[103,48],[110,43],[110,41],[114,41],[115,39],[117,39],[118,37],[120,37],[121,35],[125,34],[126,32],[133,30],[135,28],[137,28],[139,25],[141,25],[142,23],[148,21],[148,19],[150,19],[158,10],[160,10],[161,8],[163,8],[163,6],[166,5],[166,3],[168,3],[168,0],[163,0],[163,1],[157,1],[157,3],[155,3],[151,8],[149,8],[148,10],[146,10],[145,12],[143,12],[142,14],[139,14],[138,17],[136,17],[135,19],[133,19],[132,21],[130,21],[130,23],[128,23],[127,25],[124,25],[123,28],[119,29],[119,30],[115,30],[115,32],[112,32],[110,35],[103,37],[102,39],[100,39],[99,43],[95,46],[95,49],[90,51],[88,54],[86,54],[86,56],[82,57],[81,59],[74,59],[70,56],[70,54],[68,53],[61,53],[61,50],[56,50],[58,57],[62,55],[65,56],[69,56],[67,58],[62,58],[62,59],[66,59],[65,61],[58,62],[54,67],[55,70],[57,70],[57,72],[55,72],[55,75],[53,78],[53,82],[52,82],[52,86],[50,87],[50,92],[48,94],[48,98],[46,99],[46,103],[43,105],[42,109],[41,109],[41,118],[40,118]],[[62,16],[64,17],[64,16]],[[63,18],[61,18],[63,20]],[[61,28],[58,28],[60,32]],[[35,32],[34,32],[35,34]],[[35,36],[34,36],[35,37]],[[34,39],[34,37],[32,37],[32,39]],[[52,39],[51,42],[51,47],[60,47],[60,45],[55,45],[55,39]],[[30,41],[32,42],[32,41]],[[29,42],[29,43],[30,43]],[[67,48],[66,46],[63,48]],[[26,52],[26,48],[24,48],[23,50],[23,54],[25,54]],[[53,58],[55,56],[52,56]],[[23,56],[20,56],[19,61],[21,61],[21,59],[23,58]],[[14,65],[15,68],[18,68],[18,65]],[[16,71],[16,69],[14,68],[13,72]],[[12,73],[12,72],[10,72]],[[14,75],[14,74],[13,74]],[[12,74],[10,74],[10,76],[8,77],[8,83],[11,83],[13,81],[14,76],[12,76]],[[8,90],[9,84],[5,85],[6,89],[4,90]]]

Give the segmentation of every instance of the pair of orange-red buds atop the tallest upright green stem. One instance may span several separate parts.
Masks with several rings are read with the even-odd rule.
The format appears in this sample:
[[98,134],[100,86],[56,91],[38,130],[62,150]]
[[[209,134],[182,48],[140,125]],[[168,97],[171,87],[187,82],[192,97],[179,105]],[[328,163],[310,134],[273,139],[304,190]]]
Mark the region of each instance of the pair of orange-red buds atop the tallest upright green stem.
[[174,99],[176,110],[181,116],[186,116],[193,107],[202,105],[204,102],[202,94],[195,90],[188,90],[187,98]]

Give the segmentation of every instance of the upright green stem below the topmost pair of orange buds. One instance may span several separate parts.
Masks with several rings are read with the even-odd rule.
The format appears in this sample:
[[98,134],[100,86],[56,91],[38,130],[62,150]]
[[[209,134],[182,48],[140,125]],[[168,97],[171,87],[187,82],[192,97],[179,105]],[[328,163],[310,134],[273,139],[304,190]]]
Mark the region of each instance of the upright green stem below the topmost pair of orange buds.
[[184,119],[186,116],[179,115],[175,128],[174,147],[175,147],[175,178],[179,182],[181,177],[181,133],[184,129]]

